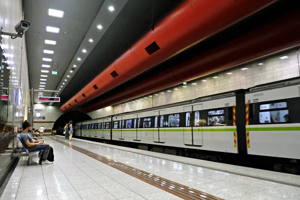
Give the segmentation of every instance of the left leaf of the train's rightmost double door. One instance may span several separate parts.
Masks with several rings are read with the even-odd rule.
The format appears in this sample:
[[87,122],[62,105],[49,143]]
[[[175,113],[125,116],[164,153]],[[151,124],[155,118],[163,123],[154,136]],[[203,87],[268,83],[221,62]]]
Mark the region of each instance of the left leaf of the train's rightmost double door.
[[184,124],[183,124],[183,143],[187,145],[192,145],[192,129],[190,115],[192,111],[192,106],[183,107],[184,113]]

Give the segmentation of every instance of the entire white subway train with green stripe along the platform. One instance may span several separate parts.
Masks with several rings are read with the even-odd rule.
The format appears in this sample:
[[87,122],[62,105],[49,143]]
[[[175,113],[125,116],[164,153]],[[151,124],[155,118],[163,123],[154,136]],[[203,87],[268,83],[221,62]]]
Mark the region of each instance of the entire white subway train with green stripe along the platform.
[[[82,121],[102,142],[300,159],[300,79]],[[202,151],[203,152],[203,151]]]

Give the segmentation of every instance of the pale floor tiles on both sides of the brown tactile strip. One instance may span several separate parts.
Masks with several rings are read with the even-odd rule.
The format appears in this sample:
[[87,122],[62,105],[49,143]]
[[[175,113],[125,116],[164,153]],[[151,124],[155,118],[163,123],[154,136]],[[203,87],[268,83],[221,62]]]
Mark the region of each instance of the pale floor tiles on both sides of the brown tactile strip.
[[[60,138],[60,137],[56,137]],[[180,199],[46,138],[53,164],[22,157],[2,199]],[[73,140],[73,145],[224,199],[300,199],[300,188]]]

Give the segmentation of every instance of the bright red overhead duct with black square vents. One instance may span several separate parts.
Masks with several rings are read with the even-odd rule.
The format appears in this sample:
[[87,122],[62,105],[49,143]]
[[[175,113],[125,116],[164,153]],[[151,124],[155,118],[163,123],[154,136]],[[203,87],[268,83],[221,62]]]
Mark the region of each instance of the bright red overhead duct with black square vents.
[[277,0],[185,0],[60,106],[77,107]]

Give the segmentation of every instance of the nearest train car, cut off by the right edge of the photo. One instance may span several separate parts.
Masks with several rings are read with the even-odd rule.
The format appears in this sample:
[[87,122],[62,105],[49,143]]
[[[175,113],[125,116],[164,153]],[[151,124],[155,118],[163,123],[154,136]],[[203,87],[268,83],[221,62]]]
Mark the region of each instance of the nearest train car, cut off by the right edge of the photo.
[[300,159],[300,80],[248,89],[247,152]]

